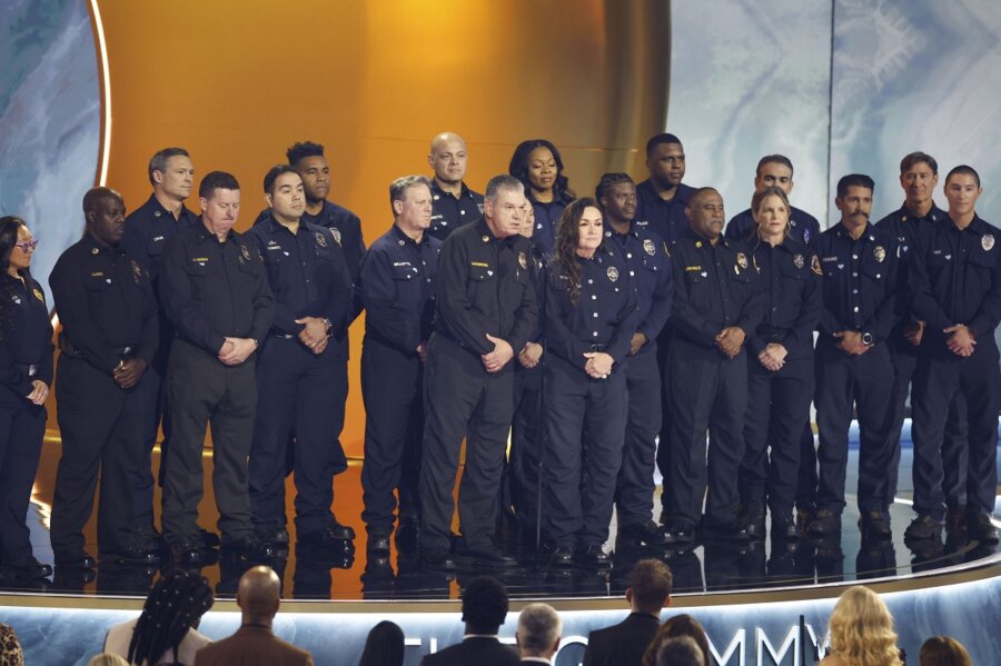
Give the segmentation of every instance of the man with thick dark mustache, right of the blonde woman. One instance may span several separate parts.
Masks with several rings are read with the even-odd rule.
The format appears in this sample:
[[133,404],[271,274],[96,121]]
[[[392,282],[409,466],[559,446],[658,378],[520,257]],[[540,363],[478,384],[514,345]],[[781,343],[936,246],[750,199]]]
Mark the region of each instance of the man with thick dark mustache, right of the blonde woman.
[[859,418],[859,509],[863,538],[890,536],[886,467],[894,409],[893,361],[888,340],[899,318],[896,239],[869,221],[872,178],[851,173],[838,181],[841,222],[816,239],[823,271],[824,309],[816,342],[816,426],[820,474],[811,536],[841,533],[848,436]]

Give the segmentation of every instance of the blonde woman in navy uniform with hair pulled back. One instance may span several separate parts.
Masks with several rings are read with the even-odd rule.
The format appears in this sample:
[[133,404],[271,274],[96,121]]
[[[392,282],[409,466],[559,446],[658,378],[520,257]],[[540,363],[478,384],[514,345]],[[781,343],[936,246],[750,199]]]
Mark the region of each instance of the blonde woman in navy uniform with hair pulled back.
[[[754,195],[757,222],[752,259],[766,291],[765,316],[747,336],[747,414],[739,486],[741,519],[752,539],[765,536],[765,500],[772,538],[797,538],[793,519],[800,469],[800,436],[813,396],[813,329],[820,319],[820,261],[790,237],[785,191],[769,187]],[[769,446],[771,445],[771,456]]]

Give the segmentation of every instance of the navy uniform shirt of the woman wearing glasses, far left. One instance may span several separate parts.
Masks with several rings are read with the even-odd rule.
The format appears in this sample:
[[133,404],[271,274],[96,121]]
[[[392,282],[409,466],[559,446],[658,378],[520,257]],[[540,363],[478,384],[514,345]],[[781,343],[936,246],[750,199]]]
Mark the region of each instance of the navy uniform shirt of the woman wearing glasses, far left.
[[[39,379],[52,385],[52,322],[41,285],[30,275],[24,281],[0,275],[0,298],[7,301],[3,337],[0,338],[0,382],[27,398]],[[26,371],[34,366],[34,375]]]

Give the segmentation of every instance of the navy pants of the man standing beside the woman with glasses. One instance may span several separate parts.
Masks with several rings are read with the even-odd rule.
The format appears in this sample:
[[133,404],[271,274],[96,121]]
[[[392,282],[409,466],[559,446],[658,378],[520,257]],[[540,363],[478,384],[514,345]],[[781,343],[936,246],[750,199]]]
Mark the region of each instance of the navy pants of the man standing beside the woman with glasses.
[[83,359],[63,354],[58,364],[62,456],[52,500],[52,549],[83,548],[99,473],[98,546],[103,551],[125,548],[132,538],[131,480],[143,446],[140,395],[136,388],[122,390],[110,372]]

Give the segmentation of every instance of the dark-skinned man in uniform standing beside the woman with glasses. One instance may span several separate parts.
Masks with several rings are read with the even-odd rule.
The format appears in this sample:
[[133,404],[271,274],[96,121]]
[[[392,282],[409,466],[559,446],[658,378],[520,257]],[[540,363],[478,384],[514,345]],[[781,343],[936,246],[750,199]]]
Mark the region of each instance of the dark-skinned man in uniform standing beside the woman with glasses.
[[101,501],[102,559],[152,564],[159,558],[131,530],[132,477],[142,460],[143,402],[136,389],[159,341],[152,282],[122,245],[125,201],[109,188],[83,197],[83,238],[67,249],[49,277],[62,324],[56,382],[62,457],[52,501],[56,566],[93,568],[83,526]]

